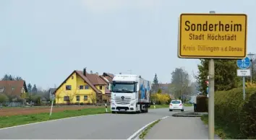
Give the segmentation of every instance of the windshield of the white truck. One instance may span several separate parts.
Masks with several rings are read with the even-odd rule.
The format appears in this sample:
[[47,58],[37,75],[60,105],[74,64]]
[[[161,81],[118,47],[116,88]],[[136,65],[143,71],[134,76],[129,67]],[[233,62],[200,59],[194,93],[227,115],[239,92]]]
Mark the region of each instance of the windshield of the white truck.
[[111,87],[112,92],[122,92],[122,93],[133,93],[135,91],[135,84],[132,83],[115,83]]

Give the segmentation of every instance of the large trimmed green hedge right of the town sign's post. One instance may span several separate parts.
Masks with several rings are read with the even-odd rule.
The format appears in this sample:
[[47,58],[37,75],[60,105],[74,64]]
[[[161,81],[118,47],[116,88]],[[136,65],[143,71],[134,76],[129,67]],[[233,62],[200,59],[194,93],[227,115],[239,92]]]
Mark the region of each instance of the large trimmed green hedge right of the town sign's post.
[[234,136],[231,139],[256,139],[256,88],[242,88],[215,92],[215,121],[226,126]]

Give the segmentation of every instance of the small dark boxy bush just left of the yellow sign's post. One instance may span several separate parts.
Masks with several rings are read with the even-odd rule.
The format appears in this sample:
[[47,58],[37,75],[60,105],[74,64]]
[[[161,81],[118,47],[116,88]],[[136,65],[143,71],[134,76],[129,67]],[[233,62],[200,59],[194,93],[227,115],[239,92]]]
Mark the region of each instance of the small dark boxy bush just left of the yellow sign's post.
[[195,112],[205,113],[208,112],[208,97],[205,95],[198,95],[197,96],[197,108]]

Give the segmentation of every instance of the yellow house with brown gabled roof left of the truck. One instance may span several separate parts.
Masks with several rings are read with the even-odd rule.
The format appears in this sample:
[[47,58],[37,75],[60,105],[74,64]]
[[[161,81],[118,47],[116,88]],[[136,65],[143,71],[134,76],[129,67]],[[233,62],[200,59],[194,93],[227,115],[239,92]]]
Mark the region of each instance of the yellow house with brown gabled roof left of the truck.
[[97,103],[102,102],[109,92],[108,83],[98,74],[88,74],[83,71],[73,71],[55,90],[57,104],[65,103]]

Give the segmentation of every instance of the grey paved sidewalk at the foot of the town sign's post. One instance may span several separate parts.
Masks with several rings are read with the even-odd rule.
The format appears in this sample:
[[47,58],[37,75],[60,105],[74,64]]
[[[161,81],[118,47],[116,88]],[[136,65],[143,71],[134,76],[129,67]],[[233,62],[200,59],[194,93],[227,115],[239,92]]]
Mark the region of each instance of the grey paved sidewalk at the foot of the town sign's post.
[[155,124],[145,139],[208,139],[208,128],[200,118],[169,117]]

